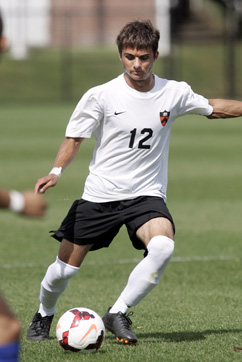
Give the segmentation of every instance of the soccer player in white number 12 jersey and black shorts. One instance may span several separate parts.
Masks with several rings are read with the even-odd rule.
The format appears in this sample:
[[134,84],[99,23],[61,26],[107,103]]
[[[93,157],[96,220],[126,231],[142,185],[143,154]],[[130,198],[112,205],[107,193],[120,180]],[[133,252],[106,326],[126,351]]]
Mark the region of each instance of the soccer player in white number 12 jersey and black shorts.
[[127,312],[159,283],[174,251],[175,226],[166,206],[172,125],[177,117],[191,113],[208,118],[242,115],[242,102],[208,100],[185,82],[154,75],[159,37],[148,20],[124,26],[117,37],[124,73],[84,94],[51,172],[35,185],[37,193],[55,186],[81,143],[94,134],[96,146],[82,198],[73,203],[53,235],[61,242],[60,249],[41,282],[29,340],[49,338],[57,300],[86,254],[108,247],[126,225],[133,246],[144,249],[145,257],[103,321],[119,340],[137,342]]

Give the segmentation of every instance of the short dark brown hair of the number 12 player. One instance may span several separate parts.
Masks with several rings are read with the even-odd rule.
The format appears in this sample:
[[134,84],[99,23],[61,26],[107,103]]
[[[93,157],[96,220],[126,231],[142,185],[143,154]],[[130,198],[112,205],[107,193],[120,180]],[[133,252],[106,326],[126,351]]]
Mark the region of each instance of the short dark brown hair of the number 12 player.
[[124,48],[138,50],[151,48],[156,55],[160,32],[150,20],[135,20],[126,24],[117,36],[116,43],[120,54]]

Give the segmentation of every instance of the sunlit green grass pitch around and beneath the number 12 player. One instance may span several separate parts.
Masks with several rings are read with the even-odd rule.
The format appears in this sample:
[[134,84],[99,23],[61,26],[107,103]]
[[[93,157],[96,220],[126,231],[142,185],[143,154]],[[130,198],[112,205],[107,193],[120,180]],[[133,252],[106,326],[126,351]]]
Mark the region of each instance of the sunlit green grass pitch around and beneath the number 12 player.
[[[64,137],[74,104],[1,106],[0,185],[32,189],[47,174]],[[93,140],[56,188],[46,193],[43,220],[1,212],[1,290],[22,322],[23,362],[241,361],[242,352],[242,119],[180,118],[170,149],[168,207],[176,223],[174,257],[161,282],[133,308],[136,347],[107,334],[92,355],[64,352],[55,325],[67,309],[85,306],[101,316],[113,304],[142,258],[125,228],[109,249],[89,253],[58,302],[46,342],[29,342],[26,331],[36,312],[39,286],[55,260],[58,242],[48,231],[59,226],[82,194]]]

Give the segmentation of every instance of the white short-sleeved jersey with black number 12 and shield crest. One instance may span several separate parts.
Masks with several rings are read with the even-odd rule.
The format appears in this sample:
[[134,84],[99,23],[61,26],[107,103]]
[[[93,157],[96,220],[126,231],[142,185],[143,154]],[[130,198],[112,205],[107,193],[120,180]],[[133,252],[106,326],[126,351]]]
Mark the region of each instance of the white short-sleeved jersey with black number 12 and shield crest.
[[83,199],[107,202],[138,196],[166,201],[168,153],[175,119],[188,113],[210,115],[208,100],[185,82],[155,76],[149,92],[139,92],[124,75],[84,94],[66,137],[89,138],[96,146]]

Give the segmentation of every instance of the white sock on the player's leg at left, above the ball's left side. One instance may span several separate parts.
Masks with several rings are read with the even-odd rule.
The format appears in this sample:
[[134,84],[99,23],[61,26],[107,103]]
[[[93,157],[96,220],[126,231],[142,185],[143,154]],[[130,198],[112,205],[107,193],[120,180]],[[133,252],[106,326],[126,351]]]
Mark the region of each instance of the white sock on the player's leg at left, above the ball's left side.
[[61,293],[66,289],[69,279],[80,268],[61,261],[58,257],[49,266],[40,287],[39,313],[42,317],[53,315],[55,306]]

